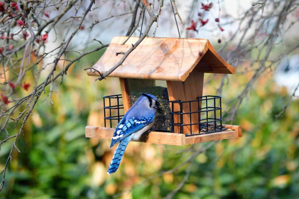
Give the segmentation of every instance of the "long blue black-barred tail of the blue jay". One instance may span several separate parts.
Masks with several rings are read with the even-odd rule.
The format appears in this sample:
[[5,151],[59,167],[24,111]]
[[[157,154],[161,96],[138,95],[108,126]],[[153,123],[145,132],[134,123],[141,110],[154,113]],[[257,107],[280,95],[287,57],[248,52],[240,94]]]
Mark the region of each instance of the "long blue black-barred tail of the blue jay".
[[112,160],[110,162],[110,165],[108,167],[108,174],[112,174],[115,171],[117,171],[119,164],[120,164],[120,160],[123,157],[123,153],[125,152],[125,149],[128,145],[128,143],[130,142],[131,138],[133,135],[129,135],[126,138],[124,138],[123,140],[121,140],[114,152],[114,155],[112,157]]

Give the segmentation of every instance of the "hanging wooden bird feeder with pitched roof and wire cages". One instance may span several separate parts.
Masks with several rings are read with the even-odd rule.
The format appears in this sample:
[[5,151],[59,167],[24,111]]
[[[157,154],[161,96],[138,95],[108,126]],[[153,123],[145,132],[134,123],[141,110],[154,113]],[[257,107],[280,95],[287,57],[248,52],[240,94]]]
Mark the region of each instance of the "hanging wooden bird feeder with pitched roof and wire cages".
[[[105,73],[123,56],[116,56],[116,53],[126,52],[139,39],[130,37],[122,45],[126,38],[114,37],[93,68]],[[121,95],[104,97],[105,127],[87,126],[86,137],[112,139],[112,127],[123,116],[121,111],[125,113],[129,110],[134,100],[132,95],[138,91],[167,98],[164,108],[169,111],[163,117],[170,120],[170,127],[163,124],[163,132],[156,129],[146,139],[142,138],[141,142],[187,145],[241,137],[242,127],[222,124],[221,97],[202,95],[204,73],[234,74],[235,71],[216,53],[209,40],[146,37],[122,66],[109,75],[120,79]],[[94,71],[88,71],[87,74],[99,76]],[[161,85],[167,89],[162,89],[159,94],[154,93]],[[139,97],[141,93],[136,96]],[[109,105],[105,99],[109,100]],[[116,101],[116,104],[113,105],[112,101]],[[107,110],[109,113],[106,113]],[[106,127],[107,119],[110,127]]]

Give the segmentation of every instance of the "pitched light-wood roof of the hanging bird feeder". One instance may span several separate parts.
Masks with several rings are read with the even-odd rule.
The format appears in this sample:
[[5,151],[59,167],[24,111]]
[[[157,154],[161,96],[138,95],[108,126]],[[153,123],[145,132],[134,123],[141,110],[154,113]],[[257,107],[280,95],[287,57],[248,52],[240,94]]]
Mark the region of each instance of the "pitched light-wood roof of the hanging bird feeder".
[[[103,56],[93,66],[108,71],[139,37],[114,37]],[[146,37],[132,51],[122,66],[109,77],[185,81],[191,72],[234,74],[236,69],[216,53],[209,40],[189,38]],[[88,70],[88,75],[97,75]]]

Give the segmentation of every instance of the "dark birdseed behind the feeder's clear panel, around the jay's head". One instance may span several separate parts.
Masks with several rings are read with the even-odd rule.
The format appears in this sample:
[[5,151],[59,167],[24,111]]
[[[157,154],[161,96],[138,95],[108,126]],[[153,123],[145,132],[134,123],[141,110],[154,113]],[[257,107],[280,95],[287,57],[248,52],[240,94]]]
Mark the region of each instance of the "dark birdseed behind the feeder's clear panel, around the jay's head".
[[131,106],[135,103],[135,101],[137,101],[142,93],[148,93],[156,96],[159,99],[160,107],[164,113],[156,113],[156,119],[153,128],[155,130],[171,131],[171,114],[167,88],[162,86],[148,86],[133,90],[129,95]]

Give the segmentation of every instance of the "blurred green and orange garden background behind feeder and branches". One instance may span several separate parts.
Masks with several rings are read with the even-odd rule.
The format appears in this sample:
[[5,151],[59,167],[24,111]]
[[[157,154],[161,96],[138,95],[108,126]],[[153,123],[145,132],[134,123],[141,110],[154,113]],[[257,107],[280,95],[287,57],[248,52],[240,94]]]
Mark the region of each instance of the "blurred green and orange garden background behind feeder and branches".
[[[89,4],[89,1],[83,2]],[[95,6],[102,7],[94,13],[89,23],[95,18],[103,19],[115,13],[122,13],[123,10],[132,9],[135,5],[135,1],[127,3],[120,1],[120,4],[117,2],[96,1]],[[267,53],[263,49],[259,51],[255,45],[259,46],[268,39],[271,35],[269,27],[274,26],[271,17],[274,20],[275,16],[272,15],[279,9],[285,9],[284,6],[289,1],[280,3],[274,1],[268,4],[269,7],[265,4],[263,19],[270,20],[265,22],[269,26],[264,24],[264,29],[260,31],[266,33],[258,36],[257,40],[250,39],[259,35],[255,31],[262,20],[261,5],[256,5],[259,8],[255,11],[256,6],[253,6],[251,1],[210,1],[213,2],[213,7],[205,18],[212,24],[218,16],[218,4],[221,5],[219,16],[220,20],[225,21],[222,25],[225,31],[218,29],[214,31],[217,24],[211,26],[207,24],[198,28],[199,31],[196,32],[186,30],[190,26],[190,20],[201,17],[198,14],[202,12],[201,2],[194,2],[176,2],[184,21],[184,24],[179,24],[181,34],[183,37],[209,39],[222,57],[237,68],[236,74],[225,77],[205,74],[204,95],[217,95],[221,88],[222,107],[224,112],[227,112],[224,119],[227,119],[227,124],[242,126],[243,137],[222,140],[214,145],[199,143],[193,146],[130,142],[120,168],[115,174],[108,175],[106,171],[115,147],[109,148],[110,140],[85,137],[85,126],[104,126],[103,96],[120,94],[117,78],[95,82],[95,77],[88,76],[86,71],[83,71],[92,63],[96,63],[105,51],[102,49],[74,63],[63,77],[61,84],[61,78],[57,79],[54,92],[51,93],[54,105],[49,104],[48,99],[43,101],[50,89],[46,88],[46,93],[36,104],[25,124],[22,136],[18,139],[17,146],[21,153],[16,150],[12,152],[0,198],[164,198],[170,197],[169,193],[178,187],[180,189],[173,198],[298,198],[299,98],[298,92],[294,92],[294,89],[299,81],[299,51],[298,47],[292,51],[289,49],[299,42],[297,35],[299,2],[292,4],[288,16],[283,15],[286,18],[285,26],[280,25],[280,31],[275,33],[279,38],[275,39],[276,43],[274,48],[271,48],[270,57],[266,57]],[[125,4],[132,6],[122,7]],[[114,8],[118,6],[119,9],[112,9],[113,6]],[[194,6],[196,9],[192,9]],[[271,6],[277,6],[275,8],[277,10],[272,10]],[[111,9],[108,11],[107,7]],[[156,36],[177,37],[170,2],[165,1],[163,8],[168,11],[162,10]],[[240,13],[247,10],[257,15],[253,19],[256,26],[245,23],[239,27],[239,21],[232,19],[242,18]],[[55,15],[54,11],[50,12],[50,18]],[[126,34],[129,19],[130,16],[109,19],[110,21],[106,20],[92,30],[88,29],[90,24],[85,24],[71,42],[71,48],[77,47],[83,52],[89,51],[98,44],[91,43],[92,38],[109,43],[112,37]],[[146,16],[145,24],[147,20]],[[123,27],[119,25],[121,22],[124,23]],[[293,26],[288,29],[289,24]],[[245,49],[241,48],[242,46],[238,47],[238,42],[243,42],[242,35],[237,31],[238,38],[234,40],[231,38],[235,29],[244,31],[247,27],[251,28],[251,32],[248,33],[249,36],[245,35],[243,46],[251,45],[255,49],[249,51],[246,48],[247,51],[243,51],[244,54],[240,56],[236,54],[237,51]],[[152,32],[153,30],[149,36],[152,36]],[[135,35],[139,35],[139,32]],[[62,37],[64,37],[62,28],[58,29],[56,34],[54,31],[49,32],[45,49],[50,51],[57,47]],[[220,43],[219,38],[222,40]],[[80,43],[84,43],[82,48]],[[288,54],[281,56],[286,51]],[[21,57],[22,54],[17,56]],[[65,57],[72,60],[77,54],[69,52]],[[264,57],[266,58],[263,59]],[[272,61],[277,57],[281,59]],[[39,66],[45,66],[53,59],[54,57],[50,57],[39,63]],[[34,57],[31,62],[36,62]],[[263,72],[256,78],[256,71],[260,65],[272,62],[275,67],[264,67]],[[57,67],[57,70],[61,70],[63,64],[59,63]],[[12,74],[11,72],[10,75]],[[255,81],[251,82],[253,79]],[[28,95],[34,88],[34,75],[28,74],[24,80],[30,82],[31,87],[28,91],[17,87],[13,94],[16,98]],[[248,83],[250,88],[246,90],[244,96],[240,96]],[[295,96],[290,98],[293,93]],[[232,118],[229,111],[238,100],[238,110]],[[288,103],[285,112],[280,116]],[[10,130],[10,133],[16,133],[17,130]],[[5,137],[2,134],[1,139]],[[12,143],[13,140],[8,140],[1,145],[1,170],[4,168]],[[207,149],[204,152],[198,152],[199,149],[205,148]],[[194,154],[192,160],[181,165]]]

